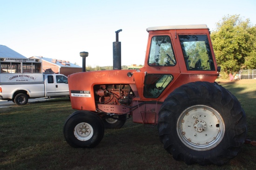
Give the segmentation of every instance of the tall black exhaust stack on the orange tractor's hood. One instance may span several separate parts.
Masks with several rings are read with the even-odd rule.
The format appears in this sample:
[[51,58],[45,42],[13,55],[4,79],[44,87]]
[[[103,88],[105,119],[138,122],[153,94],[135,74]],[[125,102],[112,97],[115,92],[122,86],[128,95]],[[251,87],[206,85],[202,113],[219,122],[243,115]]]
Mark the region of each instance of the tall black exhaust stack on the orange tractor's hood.
[[115,42],[113,42],[113,69],[121,69],[121,42],[118,40],[118,33],[122,30],[115,31]]

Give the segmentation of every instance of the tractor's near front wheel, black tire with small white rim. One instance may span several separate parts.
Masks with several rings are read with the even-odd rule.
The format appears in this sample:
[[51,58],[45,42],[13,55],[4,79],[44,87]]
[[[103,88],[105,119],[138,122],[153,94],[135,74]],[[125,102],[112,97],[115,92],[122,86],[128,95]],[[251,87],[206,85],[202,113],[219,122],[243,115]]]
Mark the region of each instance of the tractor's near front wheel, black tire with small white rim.
[[104,125],[93,112],[77,111],[67,118],[63,132],[72,147],[93,148],[104,136]]

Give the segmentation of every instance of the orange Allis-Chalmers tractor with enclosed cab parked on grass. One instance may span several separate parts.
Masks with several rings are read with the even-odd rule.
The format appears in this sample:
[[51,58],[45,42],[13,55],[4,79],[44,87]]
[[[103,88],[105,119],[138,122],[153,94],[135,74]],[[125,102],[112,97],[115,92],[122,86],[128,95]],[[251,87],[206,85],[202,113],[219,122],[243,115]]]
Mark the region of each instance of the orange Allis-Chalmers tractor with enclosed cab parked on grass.
[[[72,113],[64,136],[73,147],[92,148],[105,128],[157,125],[164,148],[186,164],[221,165],[246,137],[240,102],[215,80],[220,72],[207,25],[147,29],[144,67],[121,69],[121,42],[113,43],[113,70],[68,76]],[[117,58],[115,61],[115,58]]]

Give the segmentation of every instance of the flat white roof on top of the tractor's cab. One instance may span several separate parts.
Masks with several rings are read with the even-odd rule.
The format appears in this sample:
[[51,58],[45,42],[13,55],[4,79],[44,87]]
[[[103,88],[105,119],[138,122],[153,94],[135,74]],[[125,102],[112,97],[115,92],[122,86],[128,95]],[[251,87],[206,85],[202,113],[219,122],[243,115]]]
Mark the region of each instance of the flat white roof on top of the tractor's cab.
[[155,26],[148,27],[147,31],[156,30],[181,30],[181,29],[209,29],[206,24],[200,25],[169,25],[169,26]]

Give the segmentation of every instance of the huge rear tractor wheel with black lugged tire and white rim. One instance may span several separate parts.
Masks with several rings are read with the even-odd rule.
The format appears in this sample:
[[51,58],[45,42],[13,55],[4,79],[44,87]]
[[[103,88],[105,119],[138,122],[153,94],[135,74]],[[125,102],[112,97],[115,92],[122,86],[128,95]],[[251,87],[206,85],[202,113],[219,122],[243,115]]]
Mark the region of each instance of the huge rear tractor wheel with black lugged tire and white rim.
[[158,131],[164,148],[175,160],[222,165],[243,145],[246,116],[240,102],[222,86],[191,82],[165,99]]

